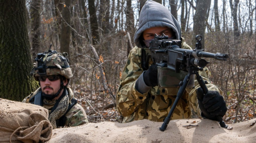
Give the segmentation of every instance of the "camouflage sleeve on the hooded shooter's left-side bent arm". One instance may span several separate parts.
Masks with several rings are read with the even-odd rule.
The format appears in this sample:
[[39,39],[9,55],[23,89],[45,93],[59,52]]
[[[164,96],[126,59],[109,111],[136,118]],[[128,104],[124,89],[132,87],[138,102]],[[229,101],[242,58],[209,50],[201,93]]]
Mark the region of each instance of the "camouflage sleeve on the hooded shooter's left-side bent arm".
[[136,80],[142,72],[141,49],[135,47],[129,53],[117,90],[117,110],[123,117],[131,116],[146,99],[147,93],[141,94],[135,89]]

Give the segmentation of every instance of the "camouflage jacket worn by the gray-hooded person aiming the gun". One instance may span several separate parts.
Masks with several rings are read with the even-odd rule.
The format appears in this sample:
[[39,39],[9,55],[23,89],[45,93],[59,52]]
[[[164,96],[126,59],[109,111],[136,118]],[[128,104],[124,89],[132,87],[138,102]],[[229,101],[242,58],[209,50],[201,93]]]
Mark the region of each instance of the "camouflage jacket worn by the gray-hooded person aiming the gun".
[[[182,48],[191,49],[182,38]],[[134,120],[151,120],[163,122],[167,117],[173,102],[176,99],[178,88],[154,87],[141,94],[135,88],[136,80],[143,73],[141,66],[141,48],[137,46],[130,51],[127,62],[123,68],[120,85],[117,91],[116,103],[118,112],[124,117],[123,123]],[[153,64],[152,60],[149,65]],[[208,79],[208,69],[204,68],[199,74],[208,81],[209,91],[222,91]],[[195,80],[195,88],[187,88],[174,110],[172,120],[192,117],[194,111],[200,117],[196,89],[200,85]]]

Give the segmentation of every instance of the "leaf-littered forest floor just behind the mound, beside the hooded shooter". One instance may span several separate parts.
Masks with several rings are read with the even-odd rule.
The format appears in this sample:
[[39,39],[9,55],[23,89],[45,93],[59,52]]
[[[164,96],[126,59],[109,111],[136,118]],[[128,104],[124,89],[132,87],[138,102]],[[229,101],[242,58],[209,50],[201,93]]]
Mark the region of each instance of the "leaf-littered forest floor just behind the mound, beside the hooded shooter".
[[[115,108],[115,100],[110,94],[99,92],[91,94],[90,90],[77,89],[74,91],[75,98],[81,104],[88,115],[89,122],[98,123],[103,121],[122,122],[122,117]],[[255,118],[255,97],[248,93],[238,104],[235,93],[230,93],[227,100],[227,113],[224,121],[228,124],[244,122]],[[92,96],[91,96],[92,95]],[[254,100],[253,100],[254,99]],[[238,106],[240,106],[237,111]],[[254,112],[253,112],[254,111]],[[237,116],[236,116],[237,115]]]

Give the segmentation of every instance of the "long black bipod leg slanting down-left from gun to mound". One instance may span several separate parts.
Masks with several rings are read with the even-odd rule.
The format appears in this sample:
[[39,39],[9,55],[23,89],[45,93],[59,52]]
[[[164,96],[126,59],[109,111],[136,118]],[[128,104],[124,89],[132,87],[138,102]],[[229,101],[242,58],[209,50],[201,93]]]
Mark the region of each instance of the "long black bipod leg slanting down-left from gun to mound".
[[172,108],[170,108],[168,116],[164,119],[162,126],[159,128],[160,131],[164,131],[167,128],[167,126],[168,126],[168,124],[170,122],[170,118],[173,115],[174,109],[176,108],[176,106],[177,106],[181,96],[184,94],[184,91],[185,91],[185,89],[187,87],[187,84],[188,84],[189,80],[190,80],[190,74],[188,73],[185,76],[185,78],[183,79],[183,82],[180,83],[181,87],[180,87],[180,89],[179,89],[179,91],[177,93],[177,98],[175,99]]

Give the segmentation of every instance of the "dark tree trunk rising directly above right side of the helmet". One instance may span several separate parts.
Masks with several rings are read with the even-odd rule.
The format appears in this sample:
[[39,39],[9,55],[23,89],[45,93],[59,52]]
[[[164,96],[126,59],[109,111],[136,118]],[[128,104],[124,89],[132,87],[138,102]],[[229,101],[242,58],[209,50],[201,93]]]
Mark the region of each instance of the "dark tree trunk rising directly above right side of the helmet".
[[71,0],[65,0],[65,6],[61,12],[61,35],[60,35],[60,52],[67,52],[70,55],[70,37],[71,37]]

